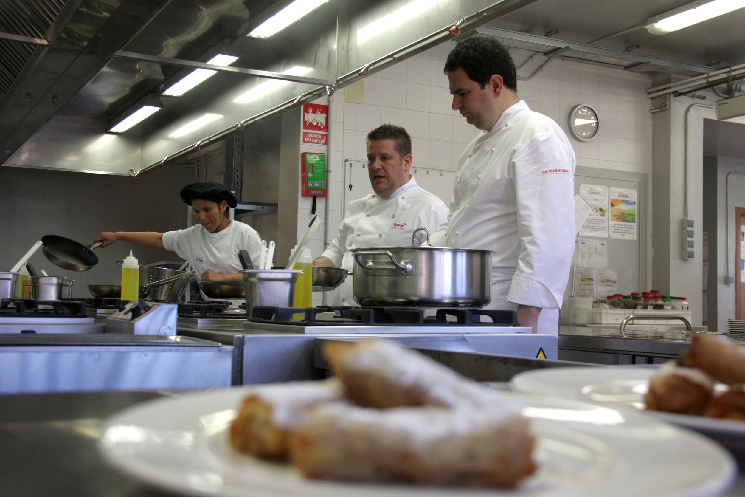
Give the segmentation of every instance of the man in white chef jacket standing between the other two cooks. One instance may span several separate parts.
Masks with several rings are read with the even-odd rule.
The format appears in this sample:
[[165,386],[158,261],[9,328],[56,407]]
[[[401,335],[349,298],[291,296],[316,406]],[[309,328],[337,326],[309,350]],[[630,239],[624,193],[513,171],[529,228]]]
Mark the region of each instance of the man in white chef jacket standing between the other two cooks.
[[[411,137],[404,128],[383,124],[367,133],[367,174],[374,193],[349,202],[339,235],[314,265],[352,270],[350,250],[410,245],[414,229],[433,232],[445,222],[445,203],[419,188],[410,167]],[[355,306],[352,290],[347,278],[334,293],[334,305]]]

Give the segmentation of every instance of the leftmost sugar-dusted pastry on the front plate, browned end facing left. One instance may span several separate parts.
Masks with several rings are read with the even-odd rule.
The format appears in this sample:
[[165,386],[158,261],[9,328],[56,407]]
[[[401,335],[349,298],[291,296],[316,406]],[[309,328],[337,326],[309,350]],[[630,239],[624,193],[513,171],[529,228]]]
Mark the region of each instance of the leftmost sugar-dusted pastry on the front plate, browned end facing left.
[[257,387],[230,425],[234,449],[259,458],[287,455],[288,437],[308,411],[342,398],[338,382],[296,382]]

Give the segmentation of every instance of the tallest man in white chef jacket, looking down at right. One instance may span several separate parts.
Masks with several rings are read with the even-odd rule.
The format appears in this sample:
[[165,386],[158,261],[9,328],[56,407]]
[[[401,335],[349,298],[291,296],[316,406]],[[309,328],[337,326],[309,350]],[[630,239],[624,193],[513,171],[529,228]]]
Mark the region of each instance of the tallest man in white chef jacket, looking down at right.
[[574,253],[574,151],[559,126],[517,97],[515,63],[475,36],[448,54],[453,110],[481,133],[460,156],[446,247],[492,251],[492,301],[522,326],[557,335]]

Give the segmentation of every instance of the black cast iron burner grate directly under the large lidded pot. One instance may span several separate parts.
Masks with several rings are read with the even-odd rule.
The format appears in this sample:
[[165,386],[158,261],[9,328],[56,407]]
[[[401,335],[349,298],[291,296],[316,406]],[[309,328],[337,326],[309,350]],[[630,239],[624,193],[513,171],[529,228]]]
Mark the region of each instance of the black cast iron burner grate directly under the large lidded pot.
[[[318,316],[326,312],[333,312],[335,316]],[[303,318],[295,320],[293,314],[300,314]],[[481,322],[481,316],[489,317],[492,322]],[[256,306],[249,319],[253,323],[296,326],[519,326],[516,311],[464,308],[438,308],[434,319],[426,319],[425,309],[417,308]]]

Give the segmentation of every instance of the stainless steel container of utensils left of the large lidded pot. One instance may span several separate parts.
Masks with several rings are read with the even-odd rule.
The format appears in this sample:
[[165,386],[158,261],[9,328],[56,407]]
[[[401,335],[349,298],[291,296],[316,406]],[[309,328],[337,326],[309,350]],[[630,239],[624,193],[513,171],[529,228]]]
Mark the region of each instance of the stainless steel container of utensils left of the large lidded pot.
[[244,269],[246,312],[254,306],[292,307],[299,269]]

